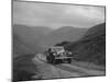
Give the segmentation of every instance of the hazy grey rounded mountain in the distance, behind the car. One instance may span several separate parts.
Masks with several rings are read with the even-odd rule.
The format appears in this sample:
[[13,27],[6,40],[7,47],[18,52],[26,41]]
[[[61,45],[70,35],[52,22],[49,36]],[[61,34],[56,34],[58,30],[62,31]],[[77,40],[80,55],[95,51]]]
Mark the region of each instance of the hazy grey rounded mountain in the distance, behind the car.
[[43,36],[40,44],[44,46],[53,46],[56,43],[61,43],[63,40],[75,42],[79,39],[86,31],[87,28],[64,26]]

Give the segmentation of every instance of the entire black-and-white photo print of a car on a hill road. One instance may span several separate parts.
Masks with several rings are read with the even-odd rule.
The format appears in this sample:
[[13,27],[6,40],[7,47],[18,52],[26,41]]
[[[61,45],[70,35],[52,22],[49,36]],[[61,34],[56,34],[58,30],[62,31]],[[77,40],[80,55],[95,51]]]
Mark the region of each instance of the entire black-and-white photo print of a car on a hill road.
[[106,7],[12,0],[12,81],[106,75]]

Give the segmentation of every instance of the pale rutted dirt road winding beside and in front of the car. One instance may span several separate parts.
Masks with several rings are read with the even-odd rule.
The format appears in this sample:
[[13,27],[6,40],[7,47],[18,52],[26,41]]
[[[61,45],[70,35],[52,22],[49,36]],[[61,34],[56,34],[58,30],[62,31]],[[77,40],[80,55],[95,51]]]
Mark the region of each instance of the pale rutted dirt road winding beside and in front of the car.
[[33,61],[40,69],[38,70],[40,77],[42,77],[42,79],[105,75],[105,71],[86,69],[79,66],[74,66],[68,63],[61,63],[61,65],[47,63],[45,56],[42,54],[37,54],[33,58]]

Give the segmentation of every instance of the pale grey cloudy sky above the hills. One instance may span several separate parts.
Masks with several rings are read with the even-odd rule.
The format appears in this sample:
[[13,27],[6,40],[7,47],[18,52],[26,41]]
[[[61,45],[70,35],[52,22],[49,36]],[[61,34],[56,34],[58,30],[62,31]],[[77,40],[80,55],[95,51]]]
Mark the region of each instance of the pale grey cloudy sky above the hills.
[[13,24],[91,27],[105,22],[105,7],[13,1]]

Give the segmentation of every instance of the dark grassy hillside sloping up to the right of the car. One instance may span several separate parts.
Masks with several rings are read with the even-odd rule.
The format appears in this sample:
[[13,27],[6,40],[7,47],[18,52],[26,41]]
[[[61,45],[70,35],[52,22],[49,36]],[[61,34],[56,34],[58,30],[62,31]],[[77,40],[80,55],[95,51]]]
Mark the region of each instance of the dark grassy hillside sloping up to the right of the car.
[[73,51],[75,60],[106,65],[106,23],[88,30],[84,37],[65,47]]

